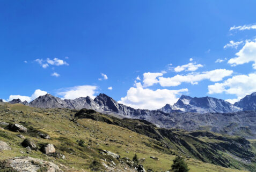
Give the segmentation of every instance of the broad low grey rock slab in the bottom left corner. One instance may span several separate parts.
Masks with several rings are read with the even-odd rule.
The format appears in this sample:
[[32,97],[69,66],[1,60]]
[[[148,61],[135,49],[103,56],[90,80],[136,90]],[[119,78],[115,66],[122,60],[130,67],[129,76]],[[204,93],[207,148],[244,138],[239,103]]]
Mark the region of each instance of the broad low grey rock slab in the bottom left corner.
[[31,157],[15,157],[5,160],[4,167],[10,167],[13,171],[49,171],[49,172],[63,172],[55,163],[31,158]]

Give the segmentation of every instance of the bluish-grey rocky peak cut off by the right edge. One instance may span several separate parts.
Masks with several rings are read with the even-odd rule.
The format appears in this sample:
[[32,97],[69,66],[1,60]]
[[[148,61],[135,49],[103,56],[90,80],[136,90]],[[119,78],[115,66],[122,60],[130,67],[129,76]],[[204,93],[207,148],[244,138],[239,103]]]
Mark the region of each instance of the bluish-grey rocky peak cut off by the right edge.
[[243,108],[244,111],[256,110],[256,92],[253,92],[251,95],[245,96],[234,105]]

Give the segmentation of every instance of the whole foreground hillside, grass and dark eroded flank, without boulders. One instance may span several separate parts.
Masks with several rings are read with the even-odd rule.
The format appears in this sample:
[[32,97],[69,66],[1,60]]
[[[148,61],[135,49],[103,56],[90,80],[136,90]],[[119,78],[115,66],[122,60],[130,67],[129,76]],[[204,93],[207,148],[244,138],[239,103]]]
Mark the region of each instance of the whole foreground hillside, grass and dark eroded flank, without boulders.
[[[208,131],[162,129],[144,120],[118,119],[93,110],[0,103],[0,121],[28,129],[13,132],[0,123],[0,141],[11,147],[1,151],[2,163],[14,157],[32,157],[53,162],[63,171],[135,171],[128,161],[136,153],[144,169],[152,171],[171,169],[177,154],[185,157],[190,171],[253,171],[256,167],[254,140]],[[18,134],[31,139],[38,150],[28,151]],[[42,153],[40,147],[46,144],[53,144],[56,153]],[[105,150],[120,158],[107,155]]]

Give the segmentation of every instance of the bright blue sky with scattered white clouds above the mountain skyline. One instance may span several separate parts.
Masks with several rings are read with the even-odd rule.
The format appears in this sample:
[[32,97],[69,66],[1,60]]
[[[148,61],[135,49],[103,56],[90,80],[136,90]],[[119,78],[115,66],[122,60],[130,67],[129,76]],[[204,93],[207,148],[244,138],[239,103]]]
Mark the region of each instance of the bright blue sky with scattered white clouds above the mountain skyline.
[[30,101],[48,92],[93,98],[103,92],[150,109],[173,104],[181,94],[233,103],[256,91],[255,6],[1,1],[0,97]]

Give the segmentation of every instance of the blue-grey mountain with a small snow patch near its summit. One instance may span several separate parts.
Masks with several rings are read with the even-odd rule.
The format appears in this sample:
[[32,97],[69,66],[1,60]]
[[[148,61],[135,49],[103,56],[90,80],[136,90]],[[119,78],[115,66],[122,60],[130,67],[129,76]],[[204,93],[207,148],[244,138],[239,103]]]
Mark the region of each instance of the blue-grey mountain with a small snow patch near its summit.
[[232,105],[228,101],[217,99],[213,97],[190,97],[182,95],[177,103],[173,105],[174,108],[180,109],[184,112],[218,112],[228,113],[241,111],[240,108]]

